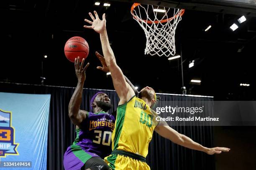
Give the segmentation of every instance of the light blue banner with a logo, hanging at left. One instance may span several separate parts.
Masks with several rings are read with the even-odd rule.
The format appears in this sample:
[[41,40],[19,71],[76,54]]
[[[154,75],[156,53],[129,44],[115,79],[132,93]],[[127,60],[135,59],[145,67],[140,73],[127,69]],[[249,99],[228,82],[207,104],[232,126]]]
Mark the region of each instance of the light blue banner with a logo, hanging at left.
[[50,99],[0,92],[0,169],[46,170]]

